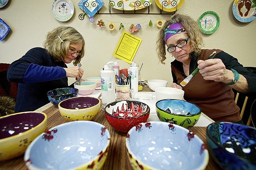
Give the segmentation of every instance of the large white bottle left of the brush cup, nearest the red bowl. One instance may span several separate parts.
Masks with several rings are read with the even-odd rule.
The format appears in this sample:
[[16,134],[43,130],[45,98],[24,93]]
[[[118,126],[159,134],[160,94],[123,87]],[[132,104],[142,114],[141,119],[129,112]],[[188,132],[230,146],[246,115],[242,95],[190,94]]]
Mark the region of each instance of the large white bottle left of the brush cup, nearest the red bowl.
[[110,61],[101,70],[101,103],[102,110],[105,110],[107,104],[116,101],[115,72],[112,70],[114,62]]

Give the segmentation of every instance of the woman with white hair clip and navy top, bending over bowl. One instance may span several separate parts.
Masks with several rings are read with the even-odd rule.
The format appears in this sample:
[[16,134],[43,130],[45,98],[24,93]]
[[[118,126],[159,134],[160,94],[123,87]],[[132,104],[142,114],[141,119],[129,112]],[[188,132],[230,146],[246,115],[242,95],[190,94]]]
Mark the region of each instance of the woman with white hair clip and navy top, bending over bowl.
[[[43,46],[30,49],[8,69],[7,79],[19,83],[16,113],[44,106],[49,103],[48,91],[68,87],[68,77],[78,81],[84,74],[78,63],[84,56],[85,41],[76,29],[55,28],[48,32]],[[66,63],[72,61],[75,67],[68,68]]]

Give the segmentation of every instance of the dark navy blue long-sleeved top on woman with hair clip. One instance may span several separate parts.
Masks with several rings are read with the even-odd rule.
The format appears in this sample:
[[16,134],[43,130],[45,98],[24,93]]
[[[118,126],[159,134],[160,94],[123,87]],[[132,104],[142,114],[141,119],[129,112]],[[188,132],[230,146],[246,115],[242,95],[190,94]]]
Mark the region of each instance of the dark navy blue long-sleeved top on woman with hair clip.
[[54,61],[46,49],[35,47],[11,63],[7,79],[18,83],[15,112],[34,111],[49,103],[47,92],[68,87],[63,61]]

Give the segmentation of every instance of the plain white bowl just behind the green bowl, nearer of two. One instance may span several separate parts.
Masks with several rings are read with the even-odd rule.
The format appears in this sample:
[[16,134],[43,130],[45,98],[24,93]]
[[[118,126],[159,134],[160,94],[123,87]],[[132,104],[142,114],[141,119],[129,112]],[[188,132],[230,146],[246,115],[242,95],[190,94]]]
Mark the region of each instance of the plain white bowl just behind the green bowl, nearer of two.
[[156,99],[178,99],[182,100],[184,96],[184,91],[174,87],[158,87],[155,89]]

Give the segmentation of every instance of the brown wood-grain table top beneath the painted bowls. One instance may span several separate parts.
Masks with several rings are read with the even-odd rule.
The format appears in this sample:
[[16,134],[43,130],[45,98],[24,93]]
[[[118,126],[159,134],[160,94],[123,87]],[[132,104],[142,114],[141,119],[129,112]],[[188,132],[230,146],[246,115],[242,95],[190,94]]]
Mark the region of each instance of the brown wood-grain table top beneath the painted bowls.
[[[151,91],[149,88],[143,87],[143,91]],[[59,124],[66,123],[66,121],[62,118],[59,113],[59,109],[53,106],[51,103],[46,104],[36,111],[42,111],[47,114],[47,130],[57,126]],[[206,115],[202,114],[203,116],[207,117]],[[207,117],[208,118],[208,117]],[[208,118],[210,119],[210,118]],[[129,158],[127,156],[126,151],[126,134],[122,134],[116,130],[114,130],[107,122],[105,118],[105,114],[100,108],[97,116],[94,118],[95,122],[101,123],[102,125],[106,126],[108,131],[110,132],[110,147],[108,150],[108,155],[105,164],[103,165],[102,170],[133,170],[132,166],[130,165]],[[190,130],[199,136],[202,141],[206,142],[206,127],[192,127]],[[206,170],[217,170],[219,167],[214,162],[213,158],[209,155],[209,163],[206,167]],[[0,169],[3,170],[27,170],[25,163],[23,161],[23,157],[19,157],[12,160],[6,160],[0,162]],[[171,169],[171,167],[170,167]]]

